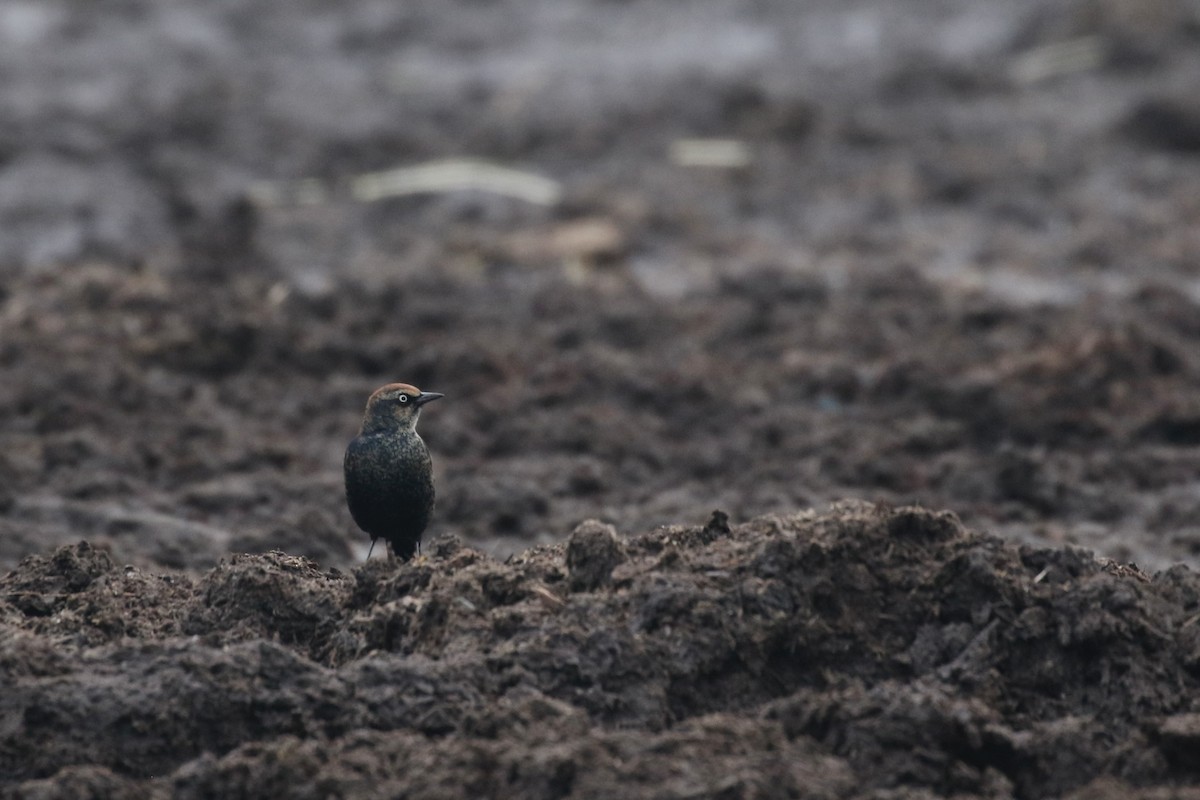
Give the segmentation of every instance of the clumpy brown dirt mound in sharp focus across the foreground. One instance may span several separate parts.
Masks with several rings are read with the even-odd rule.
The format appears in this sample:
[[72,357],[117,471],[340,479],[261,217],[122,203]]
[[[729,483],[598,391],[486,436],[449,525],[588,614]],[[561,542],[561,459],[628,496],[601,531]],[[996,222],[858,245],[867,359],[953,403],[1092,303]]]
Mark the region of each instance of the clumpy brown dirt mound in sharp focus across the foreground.
[[352,575],[239,555],[198,581],[86,543],[26,559],[0,579],[5,796],[1050,798],[1200,777],[1184,567],[865,504],[629,539],[586,523],[505,563],[428,549]]

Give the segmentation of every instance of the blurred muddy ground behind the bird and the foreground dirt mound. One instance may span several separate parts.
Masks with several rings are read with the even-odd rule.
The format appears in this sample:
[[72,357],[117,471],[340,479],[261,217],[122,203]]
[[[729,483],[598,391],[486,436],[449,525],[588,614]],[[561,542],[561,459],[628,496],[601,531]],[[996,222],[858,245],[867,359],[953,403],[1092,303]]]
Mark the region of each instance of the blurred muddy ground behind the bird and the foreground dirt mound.
[[1196,0],[4,0],[0,567],[919,503],[1200,553]]

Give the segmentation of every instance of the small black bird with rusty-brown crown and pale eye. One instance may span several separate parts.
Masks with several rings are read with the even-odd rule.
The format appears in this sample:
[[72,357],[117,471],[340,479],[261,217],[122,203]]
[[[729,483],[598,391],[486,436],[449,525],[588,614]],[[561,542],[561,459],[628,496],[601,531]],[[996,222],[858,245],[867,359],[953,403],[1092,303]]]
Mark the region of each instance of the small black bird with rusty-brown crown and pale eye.
[[359,435],[346,449],[346,504],[371,546],[384,539],[406,561],[433,513],[433,463],[416,435],[421,407],[444,395],[388,384],[367,399]]

